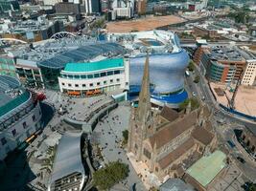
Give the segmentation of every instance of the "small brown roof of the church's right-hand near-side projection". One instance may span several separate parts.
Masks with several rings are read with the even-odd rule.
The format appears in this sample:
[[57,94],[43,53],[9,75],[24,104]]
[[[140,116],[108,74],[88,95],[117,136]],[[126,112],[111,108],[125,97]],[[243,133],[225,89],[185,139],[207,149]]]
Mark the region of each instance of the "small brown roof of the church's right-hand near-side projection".
[[198,127],[193,131],[192,137],[196,138],[202,144],[208,145],[211,143],[212,139],[214,138],[214,135],[207,131],[206,129]]

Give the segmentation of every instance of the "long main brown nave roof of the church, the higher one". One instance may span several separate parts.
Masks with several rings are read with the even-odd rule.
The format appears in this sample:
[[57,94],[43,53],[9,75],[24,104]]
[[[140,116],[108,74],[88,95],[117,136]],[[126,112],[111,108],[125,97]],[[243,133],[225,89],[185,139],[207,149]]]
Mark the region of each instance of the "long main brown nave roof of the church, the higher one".
[[193,111],[192,113],[185,115],[183,118],[167,124],[149,138],[151,147],[153,148],[154,143],[156,143],[157,149],[167,144],[172,139],[178,137],[180,134],[195,125],[197,123],[197,119],[197,111]]

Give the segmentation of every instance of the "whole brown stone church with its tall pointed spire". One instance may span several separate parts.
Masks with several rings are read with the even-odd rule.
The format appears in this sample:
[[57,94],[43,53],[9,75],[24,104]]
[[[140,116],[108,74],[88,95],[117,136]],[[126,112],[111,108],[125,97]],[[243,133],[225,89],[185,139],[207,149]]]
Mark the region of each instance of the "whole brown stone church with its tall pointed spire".
[[217,138],[206,105],[185,112],[151,106],[150,59],[147,54],[138,106],[132,107],[128,127],[128,153],[144,162],[159,180],[179,178],[203,155],[213,152]]

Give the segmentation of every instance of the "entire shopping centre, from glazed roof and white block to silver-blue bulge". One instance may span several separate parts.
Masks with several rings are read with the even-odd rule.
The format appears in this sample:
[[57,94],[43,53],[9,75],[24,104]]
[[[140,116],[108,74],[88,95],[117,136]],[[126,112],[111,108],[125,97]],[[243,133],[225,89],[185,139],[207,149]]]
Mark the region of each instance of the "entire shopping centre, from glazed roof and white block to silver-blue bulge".
[[134,98],[140,92],[147,53],[151,102],[178,107],[188,97],[184,74],[189,55],[180,48],[174,32],[107,33],[104,40],[90,36],[51,39],[16,49],[12,57],[18,77],[28,86],[76,96],[119,89]]

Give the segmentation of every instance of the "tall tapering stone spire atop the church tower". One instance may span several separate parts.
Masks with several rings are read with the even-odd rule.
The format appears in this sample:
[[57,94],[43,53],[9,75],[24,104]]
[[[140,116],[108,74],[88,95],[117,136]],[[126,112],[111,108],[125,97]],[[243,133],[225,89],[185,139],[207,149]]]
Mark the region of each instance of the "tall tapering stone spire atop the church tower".
[[147,53],[141,91],[139,94],[138,120],[146,122],[151,114],[150,67],[149,53]]

